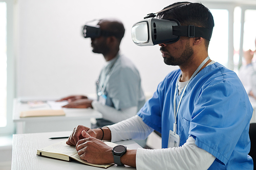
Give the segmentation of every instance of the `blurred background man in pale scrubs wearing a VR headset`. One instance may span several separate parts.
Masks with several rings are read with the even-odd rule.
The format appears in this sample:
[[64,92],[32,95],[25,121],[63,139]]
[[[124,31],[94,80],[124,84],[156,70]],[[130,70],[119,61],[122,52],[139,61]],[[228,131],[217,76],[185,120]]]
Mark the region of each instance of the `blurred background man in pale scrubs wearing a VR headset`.
[[84,38],[91,38],[93,52],[102,54],[106,65],[101,69],[96,82],[98,99],[72,95],[59,101],[68,100],[66,108],[93,107],[102,113],[103,119],[97,119],[95,127],[112,125],[134,116],[145,103],[139,71],[119,52],[124,36],[124,27],[117,19],[101,19],[97,26],[85,25]]

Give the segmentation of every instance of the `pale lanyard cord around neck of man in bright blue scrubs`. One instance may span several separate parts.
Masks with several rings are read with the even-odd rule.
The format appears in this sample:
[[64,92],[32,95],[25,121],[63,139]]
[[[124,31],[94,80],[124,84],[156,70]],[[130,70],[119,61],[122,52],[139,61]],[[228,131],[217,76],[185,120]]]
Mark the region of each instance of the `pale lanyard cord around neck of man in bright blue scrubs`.
[[[174,122],[174,134],[176,134],[176,131],[177,131],[177,114],[178,114],[178,111],[179,111],[179,108],[180,108],[180,103],[181,103],[181,100],[183,98],[183,94],[187,88],[187,85],[188,83],[196,76],[196,74],[198,74],[198,71],[203,67],[203,65],[209,60],[209,56],[204,59],[204,61],[199,65],[199,67],[197,68],[197,70],[194,72],[194,74],[190,77],[190,79],[188,80],[187,84],[185,85],[183,91],[182,91],[182,94],[181,94],[181,97],[180,97],[180,101],[179,101],[179,104],[178,104],[178,108],[177,108],[177,112],[176,112],[176,92],[177,92],[177,88],[178,88],[178,81],[179,79],[177,80],[176,82],[176,86],[175,86],[175,93],[174,93],[174,118],[175,118],[175,122]],[[181,75],[180,75],[181,77]]]

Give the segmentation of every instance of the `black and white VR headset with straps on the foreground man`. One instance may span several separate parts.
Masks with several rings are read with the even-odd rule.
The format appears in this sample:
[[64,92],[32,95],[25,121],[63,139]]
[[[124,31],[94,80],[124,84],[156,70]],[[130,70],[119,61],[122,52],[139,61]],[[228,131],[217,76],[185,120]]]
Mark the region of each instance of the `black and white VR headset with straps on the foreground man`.
[[[176,8],[190,3],[182,3],[166,8],[157,13]],[[157,14],[155,13],[155,14]],[[180,39],[180,36],[202,37],[210,40],[212,30],[193,25],[180,26],[176,19],[157,19],[156,15],[151,13],[144,17],[143,20],[135,23],[132,27],[132,39],[136,45],[151,46],[160,43],[174,43]]]

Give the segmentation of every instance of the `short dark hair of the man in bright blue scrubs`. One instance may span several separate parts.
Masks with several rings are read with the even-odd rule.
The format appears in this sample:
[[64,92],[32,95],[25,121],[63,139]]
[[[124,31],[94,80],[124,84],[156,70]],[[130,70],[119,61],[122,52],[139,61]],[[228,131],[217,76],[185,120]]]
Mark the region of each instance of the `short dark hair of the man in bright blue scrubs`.
[[[189,2],[174,3],[164,9],[181,3]],[[209,9],[200,3],[181,5],[173,9],[160,12],[157,16],[162,19],[177,19],[182,26],[194,25],[196,27],[203,27],[211,30],[214,28],[214,17],[212,17]],[[205,42],[205,46],[208,47],[209,40],[205,39]]]

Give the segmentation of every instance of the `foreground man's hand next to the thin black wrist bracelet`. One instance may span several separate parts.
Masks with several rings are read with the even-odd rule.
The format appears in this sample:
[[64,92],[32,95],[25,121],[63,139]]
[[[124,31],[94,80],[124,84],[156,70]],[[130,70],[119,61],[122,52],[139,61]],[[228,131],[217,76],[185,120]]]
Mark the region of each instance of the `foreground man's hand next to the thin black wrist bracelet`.
[[86,138],[86,135],[84,132],[82,135],[82,131],[86,131],[91,137],[96,138],[97,136],[97,133],[94,130],[82,125],[78,125],[76,128],[74,128],[73,132],[71,133],[66,143],[69,145],[75,146],[78,140]]

